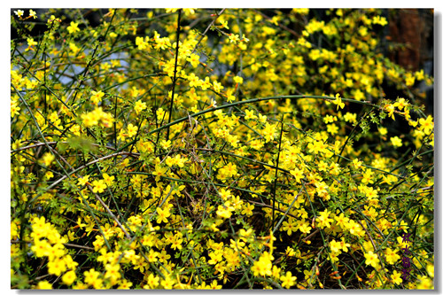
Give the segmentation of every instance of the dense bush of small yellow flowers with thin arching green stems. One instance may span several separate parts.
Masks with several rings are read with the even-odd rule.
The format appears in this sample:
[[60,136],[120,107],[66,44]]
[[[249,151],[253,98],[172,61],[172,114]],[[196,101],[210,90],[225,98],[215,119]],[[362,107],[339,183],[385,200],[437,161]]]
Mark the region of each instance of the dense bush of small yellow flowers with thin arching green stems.
[[12,288],[433,289],[433,80],[380,13],[12,12]]

